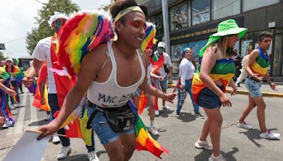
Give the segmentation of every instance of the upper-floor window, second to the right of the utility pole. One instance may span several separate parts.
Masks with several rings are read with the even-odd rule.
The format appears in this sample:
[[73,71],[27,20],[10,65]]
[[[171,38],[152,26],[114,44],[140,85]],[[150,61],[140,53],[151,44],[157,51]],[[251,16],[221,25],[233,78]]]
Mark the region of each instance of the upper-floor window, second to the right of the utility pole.
[[209,8],[209,0],[192,0],[192,25],[209,22]]

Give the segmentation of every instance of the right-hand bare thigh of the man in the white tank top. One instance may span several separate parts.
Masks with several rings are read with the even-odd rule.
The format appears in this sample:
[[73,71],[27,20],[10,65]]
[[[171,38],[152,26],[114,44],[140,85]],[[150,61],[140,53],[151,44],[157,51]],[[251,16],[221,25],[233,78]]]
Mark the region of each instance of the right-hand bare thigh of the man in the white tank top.
[[137,147],[136,135],[135,133],[130,135],[120,134],[120,139],[124,149],[124,160],[127,161],[132,157],[132,154]]

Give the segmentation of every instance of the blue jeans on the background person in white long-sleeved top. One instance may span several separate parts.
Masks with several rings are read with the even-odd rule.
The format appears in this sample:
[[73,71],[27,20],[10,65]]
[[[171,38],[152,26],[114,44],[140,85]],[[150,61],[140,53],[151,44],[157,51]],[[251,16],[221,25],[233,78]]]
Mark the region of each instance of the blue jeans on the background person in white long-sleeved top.
[[187,97],[187,93],[190,94],[190,98],[192,100],[192,106],[194,107],[195,114],[199,113],[200,107],[195,103],[192,98],[192,80],[185,81],[185,88],[183,90],[178,90],[178,104],[177,104],[177,112],[179,113],[183,107],[185,102],[185,98]]

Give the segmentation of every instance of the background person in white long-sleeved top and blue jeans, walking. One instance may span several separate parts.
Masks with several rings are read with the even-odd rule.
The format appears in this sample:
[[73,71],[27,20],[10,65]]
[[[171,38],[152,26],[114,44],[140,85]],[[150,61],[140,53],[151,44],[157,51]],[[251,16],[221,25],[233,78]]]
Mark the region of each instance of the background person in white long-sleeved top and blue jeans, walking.
[[192,64],[192,61],[190,61],[191,58],[192,50],[188,47],[183,49],[183,59],[179,67],[180,86],[178,89],[178,104],[176,114],[177,116],[180,116],[180,110],[183,107],[187,93],[189,93],[192,100],[192,106],[194,107],[195,117],[204,119],[204,116],[200,114],[199,106],[192,99],[192,77],[195,73],[195,66]]

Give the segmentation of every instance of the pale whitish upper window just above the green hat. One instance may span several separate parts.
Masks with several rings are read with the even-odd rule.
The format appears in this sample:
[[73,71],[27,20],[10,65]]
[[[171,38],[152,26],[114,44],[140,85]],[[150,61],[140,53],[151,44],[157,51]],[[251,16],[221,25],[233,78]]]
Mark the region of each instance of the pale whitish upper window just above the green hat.
[[241,12],[241,0],[212,0],[212,19],[233,16]]

